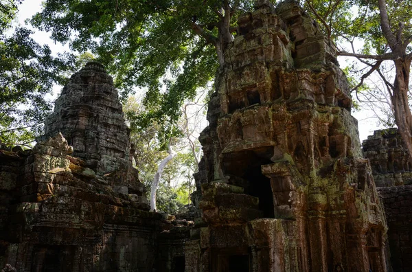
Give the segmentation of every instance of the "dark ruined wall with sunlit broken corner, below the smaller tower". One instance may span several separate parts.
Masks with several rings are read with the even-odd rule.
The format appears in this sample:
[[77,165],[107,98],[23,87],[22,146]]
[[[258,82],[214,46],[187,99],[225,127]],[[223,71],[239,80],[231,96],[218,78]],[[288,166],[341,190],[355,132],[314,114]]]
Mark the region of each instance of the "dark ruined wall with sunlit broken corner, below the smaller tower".
[[139,201],[143,196],[113,192],[67,155],[71,148],[61,134],[25,154],[0,152],[1,164],[20,164],[12,177],[1,173],[2,181],[14,183],[8,188],[14,199],[1,203],[7,212],[1,218],[1,265],[18,271],[151,271],[163,223],[147,211],[147,201]]

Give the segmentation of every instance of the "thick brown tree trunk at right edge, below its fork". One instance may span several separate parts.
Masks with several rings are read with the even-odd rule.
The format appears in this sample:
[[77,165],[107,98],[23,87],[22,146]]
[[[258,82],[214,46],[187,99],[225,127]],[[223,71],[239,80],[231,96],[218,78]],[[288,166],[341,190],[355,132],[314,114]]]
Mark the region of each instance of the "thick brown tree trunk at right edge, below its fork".
[[407,145],[409,158],[412,161],[412,114],[408,103],[409,73],[411,60],[394,60],[396,78],[393,84],[391,100],[395,113],[395,122],[399,133]]

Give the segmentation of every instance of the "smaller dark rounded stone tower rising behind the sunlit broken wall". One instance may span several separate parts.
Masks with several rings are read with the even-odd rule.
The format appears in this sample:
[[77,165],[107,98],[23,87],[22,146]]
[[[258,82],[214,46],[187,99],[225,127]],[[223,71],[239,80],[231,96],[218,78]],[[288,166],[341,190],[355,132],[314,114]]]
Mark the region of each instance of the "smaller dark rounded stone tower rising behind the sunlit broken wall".
[[63,88],[54,113],[45,121],[42,139],[59,132],[73,147],[71,156],[82,159],[98,177],[128,170],[117,182],[124,183],[122,188],[112,185],[126,193],[139,190],[137,170],[130,167],[132,158],[122,104],[111,76],[100,63],[87,63]]

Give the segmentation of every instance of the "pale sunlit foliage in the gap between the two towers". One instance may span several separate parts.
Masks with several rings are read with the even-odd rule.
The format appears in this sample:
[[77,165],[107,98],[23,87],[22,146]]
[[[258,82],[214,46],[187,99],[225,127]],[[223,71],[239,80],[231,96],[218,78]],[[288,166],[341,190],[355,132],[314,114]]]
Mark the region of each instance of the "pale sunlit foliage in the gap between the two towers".
[[[126,120],[130,122],[130,141],[135,147],[134,159],[139,170],[139,178],[147,188],[150,188],[162,159],[168,154],[158,140],[159,126],[152,122],[146,129],[133,122],[136,115],[145,111],[144,106],[135,96],[130,96],[124,104]],[[156,204],[161,212],[176,214],[177,210],[187,204],[190,186],[193,182],[192,174],[196,170],[196,163],[192,153],[185,148],[182,139],[175,138],[174,147],[179,149],[178,155],[172,159],[163,170],[157,190]]]

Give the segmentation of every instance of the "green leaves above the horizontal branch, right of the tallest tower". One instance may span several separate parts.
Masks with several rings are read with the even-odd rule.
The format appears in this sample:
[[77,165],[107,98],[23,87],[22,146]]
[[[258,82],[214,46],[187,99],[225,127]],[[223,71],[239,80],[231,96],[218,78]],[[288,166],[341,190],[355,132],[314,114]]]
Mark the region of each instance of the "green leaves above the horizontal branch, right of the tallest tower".
[[[390,16],[391,30],[394,33],[400,30],[402,38],[410,38],[412,1],[384,2]],[[306,0],[304,5],[312,12],[325,32],[330,32],[332,41],[341,51],[352,52],[352,47],[345,48],[343,45],[352,45],[354,41],[361,42],[362,48],[358,52],[361,54],[384,55],[391,51],[382,34],[378,0]],[[403,27],[400,28],[400,25]],[[409,46],[408,51],[410,49]]]

